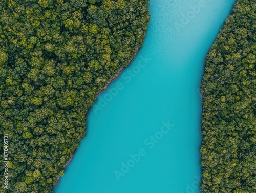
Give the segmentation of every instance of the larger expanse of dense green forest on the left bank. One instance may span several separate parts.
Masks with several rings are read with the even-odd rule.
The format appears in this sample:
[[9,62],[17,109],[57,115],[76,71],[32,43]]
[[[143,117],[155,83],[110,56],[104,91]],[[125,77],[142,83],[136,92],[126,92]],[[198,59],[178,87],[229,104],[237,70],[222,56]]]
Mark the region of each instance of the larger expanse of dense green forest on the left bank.
[[52,192],[94,96],[143,44],[148,0],[2,0],[0,16],[0,191]]

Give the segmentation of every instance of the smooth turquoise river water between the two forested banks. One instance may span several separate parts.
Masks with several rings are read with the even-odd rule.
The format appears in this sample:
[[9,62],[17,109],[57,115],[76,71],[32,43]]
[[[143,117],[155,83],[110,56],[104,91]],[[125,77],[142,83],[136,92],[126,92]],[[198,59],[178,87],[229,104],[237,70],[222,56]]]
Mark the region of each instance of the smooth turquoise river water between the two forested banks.
[[199,87],[234,2],[150,2],[145,44],[90,110],[86,138],[54,192],[200,192]]

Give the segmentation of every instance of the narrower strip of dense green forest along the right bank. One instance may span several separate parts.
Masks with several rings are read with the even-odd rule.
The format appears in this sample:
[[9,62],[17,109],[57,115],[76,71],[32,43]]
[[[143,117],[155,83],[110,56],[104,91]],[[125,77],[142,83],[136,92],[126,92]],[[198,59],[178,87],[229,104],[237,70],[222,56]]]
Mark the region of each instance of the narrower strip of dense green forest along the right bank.
[[204,193],[256,192],[256,2],[238,0],[206,58]]

